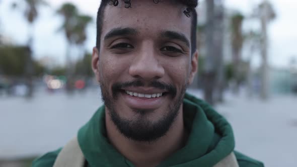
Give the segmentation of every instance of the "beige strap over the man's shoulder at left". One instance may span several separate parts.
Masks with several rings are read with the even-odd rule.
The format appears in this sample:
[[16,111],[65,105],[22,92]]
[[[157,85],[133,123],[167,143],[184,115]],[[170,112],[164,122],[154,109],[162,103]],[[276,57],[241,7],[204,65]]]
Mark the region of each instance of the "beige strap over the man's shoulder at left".
[[71,139],[58,154],[53,167],[83,167],[85,157],[78,138]]

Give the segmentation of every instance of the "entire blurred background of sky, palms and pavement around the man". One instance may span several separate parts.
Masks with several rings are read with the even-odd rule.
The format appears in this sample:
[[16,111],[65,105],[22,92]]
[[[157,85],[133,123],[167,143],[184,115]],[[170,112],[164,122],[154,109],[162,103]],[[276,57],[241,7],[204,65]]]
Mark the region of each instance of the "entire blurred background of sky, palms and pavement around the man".
[[[102,105],[91,69],[100,1],[0,0],[0,166],[30,166]],[[204,0],[188,92],[224,115],[236,149],[297,163],[297,24],[291,0]]]

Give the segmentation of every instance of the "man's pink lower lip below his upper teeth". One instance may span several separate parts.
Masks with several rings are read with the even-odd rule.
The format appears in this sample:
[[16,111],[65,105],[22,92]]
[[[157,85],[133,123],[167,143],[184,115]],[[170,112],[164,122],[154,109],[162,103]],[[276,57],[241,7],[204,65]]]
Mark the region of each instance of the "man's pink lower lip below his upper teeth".
[[124,102],[131,108],[134,109],[157,109],[164,105],[164,100],[166,95],[159,98],[139,98],[135,96],[130,96],[126,93],[122,93]]

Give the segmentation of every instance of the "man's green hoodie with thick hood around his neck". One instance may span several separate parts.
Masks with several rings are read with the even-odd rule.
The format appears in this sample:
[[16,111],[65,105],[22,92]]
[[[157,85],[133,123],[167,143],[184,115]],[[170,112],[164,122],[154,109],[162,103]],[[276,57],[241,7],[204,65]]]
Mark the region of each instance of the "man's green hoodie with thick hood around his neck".
[[[161,166],[210,167],[234,151],[233,131],[226,119],[205,102],[186,94],[183,102],[185,127],[190,132],[186,145],[173,153]],[[102,106],[78,132],[78,141],[88,166],[133,166],[109,142],[105,129],[105,107]],[[61,148],[33,161],[33,167],[49,167]],[[262,162],[234,151],[240,167],[260,167]]]

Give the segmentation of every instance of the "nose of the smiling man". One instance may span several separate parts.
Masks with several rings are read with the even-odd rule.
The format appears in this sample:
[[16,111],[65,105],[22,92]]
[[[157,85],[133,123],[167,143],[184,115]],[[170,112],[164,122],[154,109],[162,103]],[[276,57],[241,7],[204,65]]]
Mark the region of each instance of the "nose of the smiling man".
[[143,44],[129,67],[129,74],[148,81],[163,77],[165,71],[157,54],[153,44]]

